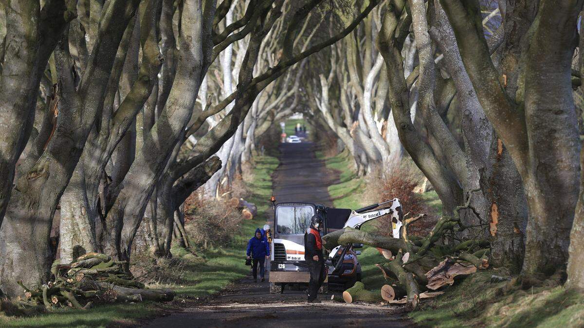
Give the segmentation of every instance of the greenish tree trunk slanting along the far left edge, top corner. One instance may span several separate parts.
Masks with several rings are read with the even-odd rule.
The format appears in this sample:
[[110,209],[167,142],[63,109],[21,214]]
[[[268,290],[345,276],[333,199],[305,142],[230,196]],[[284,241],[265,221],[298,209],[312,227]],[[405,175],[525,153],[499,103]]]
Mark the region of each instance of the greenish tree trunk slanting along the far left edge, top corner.
[[[37,92],[57,41],[75,18],[74,1],[8,1],[0,44],[0,226],[11,197],[15,165],[33,128]],[[39,132],[39,131],[36,131]]]

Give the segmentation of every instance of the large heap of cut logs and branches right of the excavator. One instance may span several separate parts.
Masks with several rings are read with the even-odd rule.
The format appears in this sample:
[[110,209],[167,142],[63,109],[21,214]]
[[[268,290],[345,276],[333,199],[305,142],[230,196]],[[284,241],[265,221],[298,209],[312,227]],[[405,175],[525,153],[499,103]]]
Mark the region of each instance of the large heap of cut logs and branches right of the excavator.
[[[408,226],[424,215],[407,218],[399,239],[375,235],[353,228],[340,229],[323,236],[326,249],[339,245],[363,243],[377,247],[383,254],[384,263],[376,266],[381,270],[387,285],[380,291],[367,291],[358,282],[343,292],[346,303],[354,301],[404,303],[406,310],[413,310],[420,299],[443,293],[454,284],[457,277],[475,273],[489,267],[489,243],[485,240],[464,240],[457,245],[444,245],[442,240],[449,234],[462,232],[469,227],[461,222],[458,211],[470,205],[471,191],[464,206],[457,207],[455,214],[438,220],[432,232],[425,238],[408,236]],[[485,225],[488,225],[485,224]]]

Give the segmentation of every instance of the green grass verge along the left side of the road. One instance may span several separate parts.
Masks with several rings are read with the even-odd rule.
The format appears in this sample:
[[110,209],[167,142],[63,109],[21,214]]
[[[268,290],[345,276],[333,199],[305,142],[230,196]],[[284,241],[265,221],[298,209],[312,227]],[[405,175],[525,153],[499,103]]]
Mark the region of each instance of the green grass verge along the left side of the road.
[[[170,286],[176,291],[176,298],[197,298],[213,295],[231,282],[245,277],[249,267],[245,266],[245,246],[256,228],[266,223],[266,213],[270,210],[272,195],[272,172],[278,160],[270,156],[255,158],[253,179],[247,181],[253,191],[249,200],[258,206],[258,216],[241,225],[241,233],[235,236],[231,245],[223,249],[207,249],[194,256],[184,249],[175,247],[173,256],[181,257],[187,263],[183,279]],[[188,227],[187,227],[188,229]],[[58,309],[50,313],[27,317],[5,317],[0,315],[2,327],[103,327],[110,324],[135,325],[140,319],[155,316],[163,310],[176,310],[176,305],[164,303],[123,303],[99,305],[89,310]]]

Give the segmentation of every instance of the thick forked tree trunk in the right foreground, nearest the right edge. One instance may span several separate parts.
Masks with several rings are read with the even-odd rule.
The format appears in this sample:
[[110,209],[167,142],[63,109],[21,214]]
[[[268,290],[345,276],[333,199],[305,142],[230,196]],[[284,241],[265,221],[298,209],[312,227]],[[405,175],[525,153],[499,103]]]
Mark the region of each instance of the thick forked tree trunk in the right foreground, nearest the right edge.
[[522,274],[531,284],[568,260],[580,170],[570,76],[582,2],[507,3],[502,72],[479,28],[478,1],[440,3],[485,115],[522,177],[529,208]]

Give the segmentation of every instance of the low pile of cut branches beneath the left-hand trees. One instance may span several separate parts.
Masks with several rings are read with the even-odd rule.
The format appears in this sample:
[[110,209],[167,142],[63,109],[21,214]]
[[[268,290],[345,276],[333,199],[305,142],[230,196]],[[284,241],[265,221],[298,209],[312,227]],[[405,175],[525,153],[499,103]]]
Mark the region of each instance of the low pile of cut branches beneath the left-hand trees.
[[88,309],[95,303],[172,301],[172,289],[145,289],[131,273],[124,271],[125,261],[114,261],[100,253],[87,253],[72,263],[56,260],[51,267],[53,281],[38,288],[25,289],[25,305],[44,305],[46,308],[69,306]]

